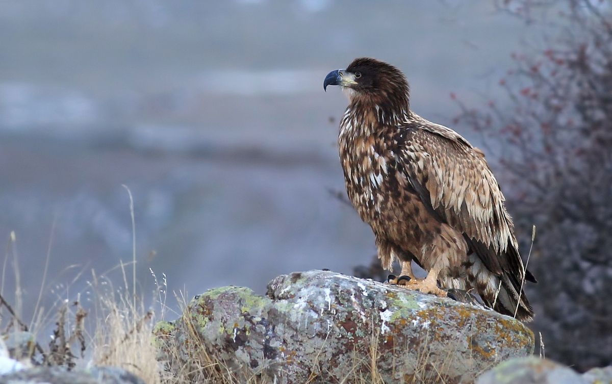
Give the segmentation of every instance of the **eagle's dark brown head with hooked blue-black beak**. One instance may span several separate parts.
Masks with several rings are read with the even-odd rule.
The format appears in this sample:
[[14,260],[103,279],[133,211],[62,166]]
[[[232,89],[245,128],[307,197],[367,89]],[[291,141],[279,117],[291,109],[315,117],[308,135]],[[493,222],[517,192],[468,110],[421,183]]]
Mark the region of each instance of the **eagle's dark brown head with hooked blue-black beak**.
[[370,104],[394,111],[408,109],[408,81],[398,68],[384,61],[359,57],[346,67],[330,72],[323,82],[341,86],[348,92],[351,103]]

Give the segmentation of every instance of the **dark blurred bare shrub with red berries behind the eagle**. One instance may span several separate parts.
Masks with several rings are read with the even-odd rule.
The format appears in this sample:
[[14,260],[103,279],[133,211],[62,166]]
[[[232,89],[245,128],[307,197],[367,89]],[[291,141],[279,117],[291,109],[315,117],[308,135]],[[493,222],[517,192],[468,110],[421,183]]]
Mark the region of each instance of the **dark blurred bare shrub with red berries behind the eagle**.
[[[529,289],[548,355],[585,370],[612,364],[612,4],[504,0],[500,9],[546,23],[546,48],[512,54],[506,101],[460,104],[479,133],[528,249]],[[554,23],[552,22],[554,20]],[[496,155],[498,158],[495,158]]]

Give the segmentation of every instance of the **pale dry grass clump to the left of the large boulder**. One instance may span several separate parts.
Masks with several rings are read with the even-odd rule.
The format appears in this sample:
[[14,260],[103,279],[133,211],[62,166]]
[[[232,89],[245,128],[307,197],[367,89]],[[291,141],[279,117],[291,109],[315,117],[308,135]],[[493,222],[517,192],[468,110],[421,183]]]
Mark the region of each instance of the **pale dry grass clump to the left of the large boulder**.
[[[54,226],[51,229],[42,284],[29,325],[23,321],[21,315],[23,291],[20,288],[22,277],[17,253],[17,235],[11,232],[9,237],[0,283],[0,336],[4,339],[12,336],[13,339],[20,340],[23,333],[28,332],[36,338],[37,334],[46,333],[51,323],[55,323],[48,345],[40,344],[35,339],[23,346],[17,342],[17,349],[11,351],[12,356],[26,363],[26,366],[64,366],[67,369],[88,364],[119,366],[132,371],[148,384],[159,384],[161,378],[157,349],[152,343],[153,313],[144,308],[142,301],[136,300],[135,290],[132,290],[131,294],[126,293],[129,290],[125,265],[120,264],[111,269],[121,271],[125,290],[113,288],[111,279],[106,277],[110,271],[102,275],[102,282],[93,273],[93,282],[89,284],[88,290],[94,294],[94,298],[91,303],[86,303],[87,308],[84,308],[81,306],[81,294],[84,292],[72,295],[69,293],[70,287],[82,279],[83,271],[76,273],[72,281],[65,286],[57,284],[53,287],[53,282],[47,284],[53,231]],[[4,295],[4,276],[9,261],[14,266],[14,300]],[[70,266],[65,270],[72,268],[73,266]],[[157,285],[160,298],[163,287],[165,285]],[[51,292],[56,296],[53,305],[46,310],[41,306],[43,292]],[[71,296],[76,298],[69,300]],[[165,306],[165,303],[161,305]],[[88,316],[91,311],[94,311],[95,316]],[[88,323],[88,320],[91,321]]]

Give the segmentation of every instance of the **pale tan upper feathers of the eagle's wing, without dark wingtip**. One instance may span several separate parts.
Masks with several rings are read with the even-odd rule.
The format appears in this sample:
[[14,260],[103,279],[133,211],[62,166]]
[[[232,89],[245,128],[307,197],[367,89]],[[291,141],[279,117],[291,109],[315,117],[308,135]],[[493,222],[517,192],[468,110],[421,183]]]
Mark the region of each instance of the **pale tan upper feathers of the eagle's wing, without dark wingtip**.
[[482,155],[441,125],[412,122],[405,128],[409,177],[444,221],[495,251],[517,246],[504,196]]

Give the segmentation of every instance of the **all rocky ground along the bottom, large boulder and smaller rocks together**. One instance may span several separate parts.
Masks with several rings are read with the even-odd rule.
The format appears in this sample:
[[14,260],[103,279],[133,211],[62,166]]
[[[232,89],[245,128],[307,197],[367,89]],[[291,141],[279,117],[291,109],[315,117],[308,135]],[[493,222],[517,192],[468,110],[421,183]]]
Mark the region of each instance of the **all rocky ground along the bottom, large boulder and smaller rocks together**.
[[[147,366],[159,375],[147,384],[612,383],[612,367],[578,374],[534,356],[523,323],[461,301],[323,270],[278,276],[264,296],[211,289],[175,322],[157,323],[155,338],[144,334],[158,348]],[[130,344],[132,331],[113,350]],[[36,365],[35,346],[28,332],[0,339],[0,384],[144,383],[144,366],[129,359],[115,362],[121,367]]]

